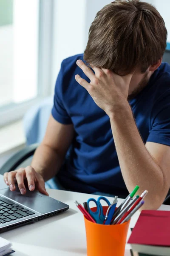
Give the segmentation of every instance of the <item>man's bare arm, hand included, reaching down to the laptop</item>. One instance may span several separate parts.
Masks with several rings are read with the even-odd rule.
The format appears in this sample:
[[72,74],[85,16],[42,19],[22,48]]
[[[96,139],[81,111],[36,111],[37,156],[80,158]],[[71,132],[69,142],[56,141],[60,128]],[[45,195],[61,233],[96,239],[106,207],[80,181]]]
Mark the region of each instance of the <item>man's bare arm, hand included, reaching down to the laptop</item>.
[[30,191],[37,188],[41,193],[48,195],[44,180],[48,180],[57,174],[73,137],[73,125],[63,125],[51,115],[44,140],[37,148],[31,166],[4,173],[4,181],[10,190],[14,191],[16,189],[15,182],[17,181],[21,194],[26,194],[24,184],[26,178]]

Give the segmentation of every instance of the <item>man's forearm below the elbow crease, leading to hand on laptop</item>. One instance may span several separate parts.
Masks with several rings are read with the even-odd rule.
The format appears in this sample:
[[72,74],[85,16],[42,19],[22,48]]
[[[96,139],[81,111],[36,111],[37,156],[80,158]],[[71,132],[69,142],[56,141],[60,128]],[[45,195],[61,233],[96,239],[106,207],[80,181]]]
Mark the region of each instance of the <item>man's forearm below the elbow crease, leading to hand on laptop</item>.
[[45,181],[54,177],[62,166],[64,158],[57,151],[41,144],[35,151],[31,166],[40,173]]

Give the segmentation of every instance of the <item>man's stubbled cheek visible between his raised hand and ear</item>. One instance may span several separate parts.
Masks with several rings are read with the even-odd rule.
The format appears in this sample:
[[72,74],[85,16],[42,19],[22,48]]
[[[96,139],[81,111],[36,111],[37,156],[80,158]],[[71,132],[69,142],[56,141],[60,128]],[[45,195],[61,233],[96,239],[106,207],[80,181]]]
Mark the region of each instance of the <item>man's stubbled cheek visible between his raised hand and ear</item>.
[[129,85],[128,99],[133,99],[147,85],[151,74],[149,70],[145,73],[136,72],[133,74]]

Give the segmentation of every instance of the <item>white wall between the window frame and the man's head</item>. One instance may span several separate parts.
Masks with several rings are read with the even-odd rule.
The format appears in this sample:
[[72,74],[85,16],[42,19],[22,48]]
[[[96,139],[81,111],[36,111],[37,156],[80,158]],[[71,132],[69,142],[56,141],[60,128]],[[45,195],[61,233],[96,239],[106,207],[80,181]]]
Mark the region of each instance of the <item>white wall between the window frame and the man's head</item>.
[[82,53],[88,41],[88,30],[96,13],[109,0],[55,0],[52,93],[61,62]]

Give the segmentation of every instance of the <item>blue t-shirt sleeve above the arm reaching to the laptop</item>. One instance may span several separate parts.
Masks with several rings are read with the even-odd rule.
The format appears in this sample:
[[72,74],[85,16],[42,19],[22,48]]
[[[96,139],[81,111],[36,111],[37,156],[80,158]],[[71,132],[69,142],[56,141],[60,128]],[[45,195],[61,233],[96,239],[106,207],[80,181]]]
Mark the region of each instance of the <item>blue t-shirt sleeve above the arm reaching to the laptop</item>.
[[61,69],[59,71],[54,93],[54,105],[51,111],[52,116],[58,122],[68,125],[72,124],[71,118],[65,109],[63,102],[63,80],[64,80],[64,64],[62,62]]

